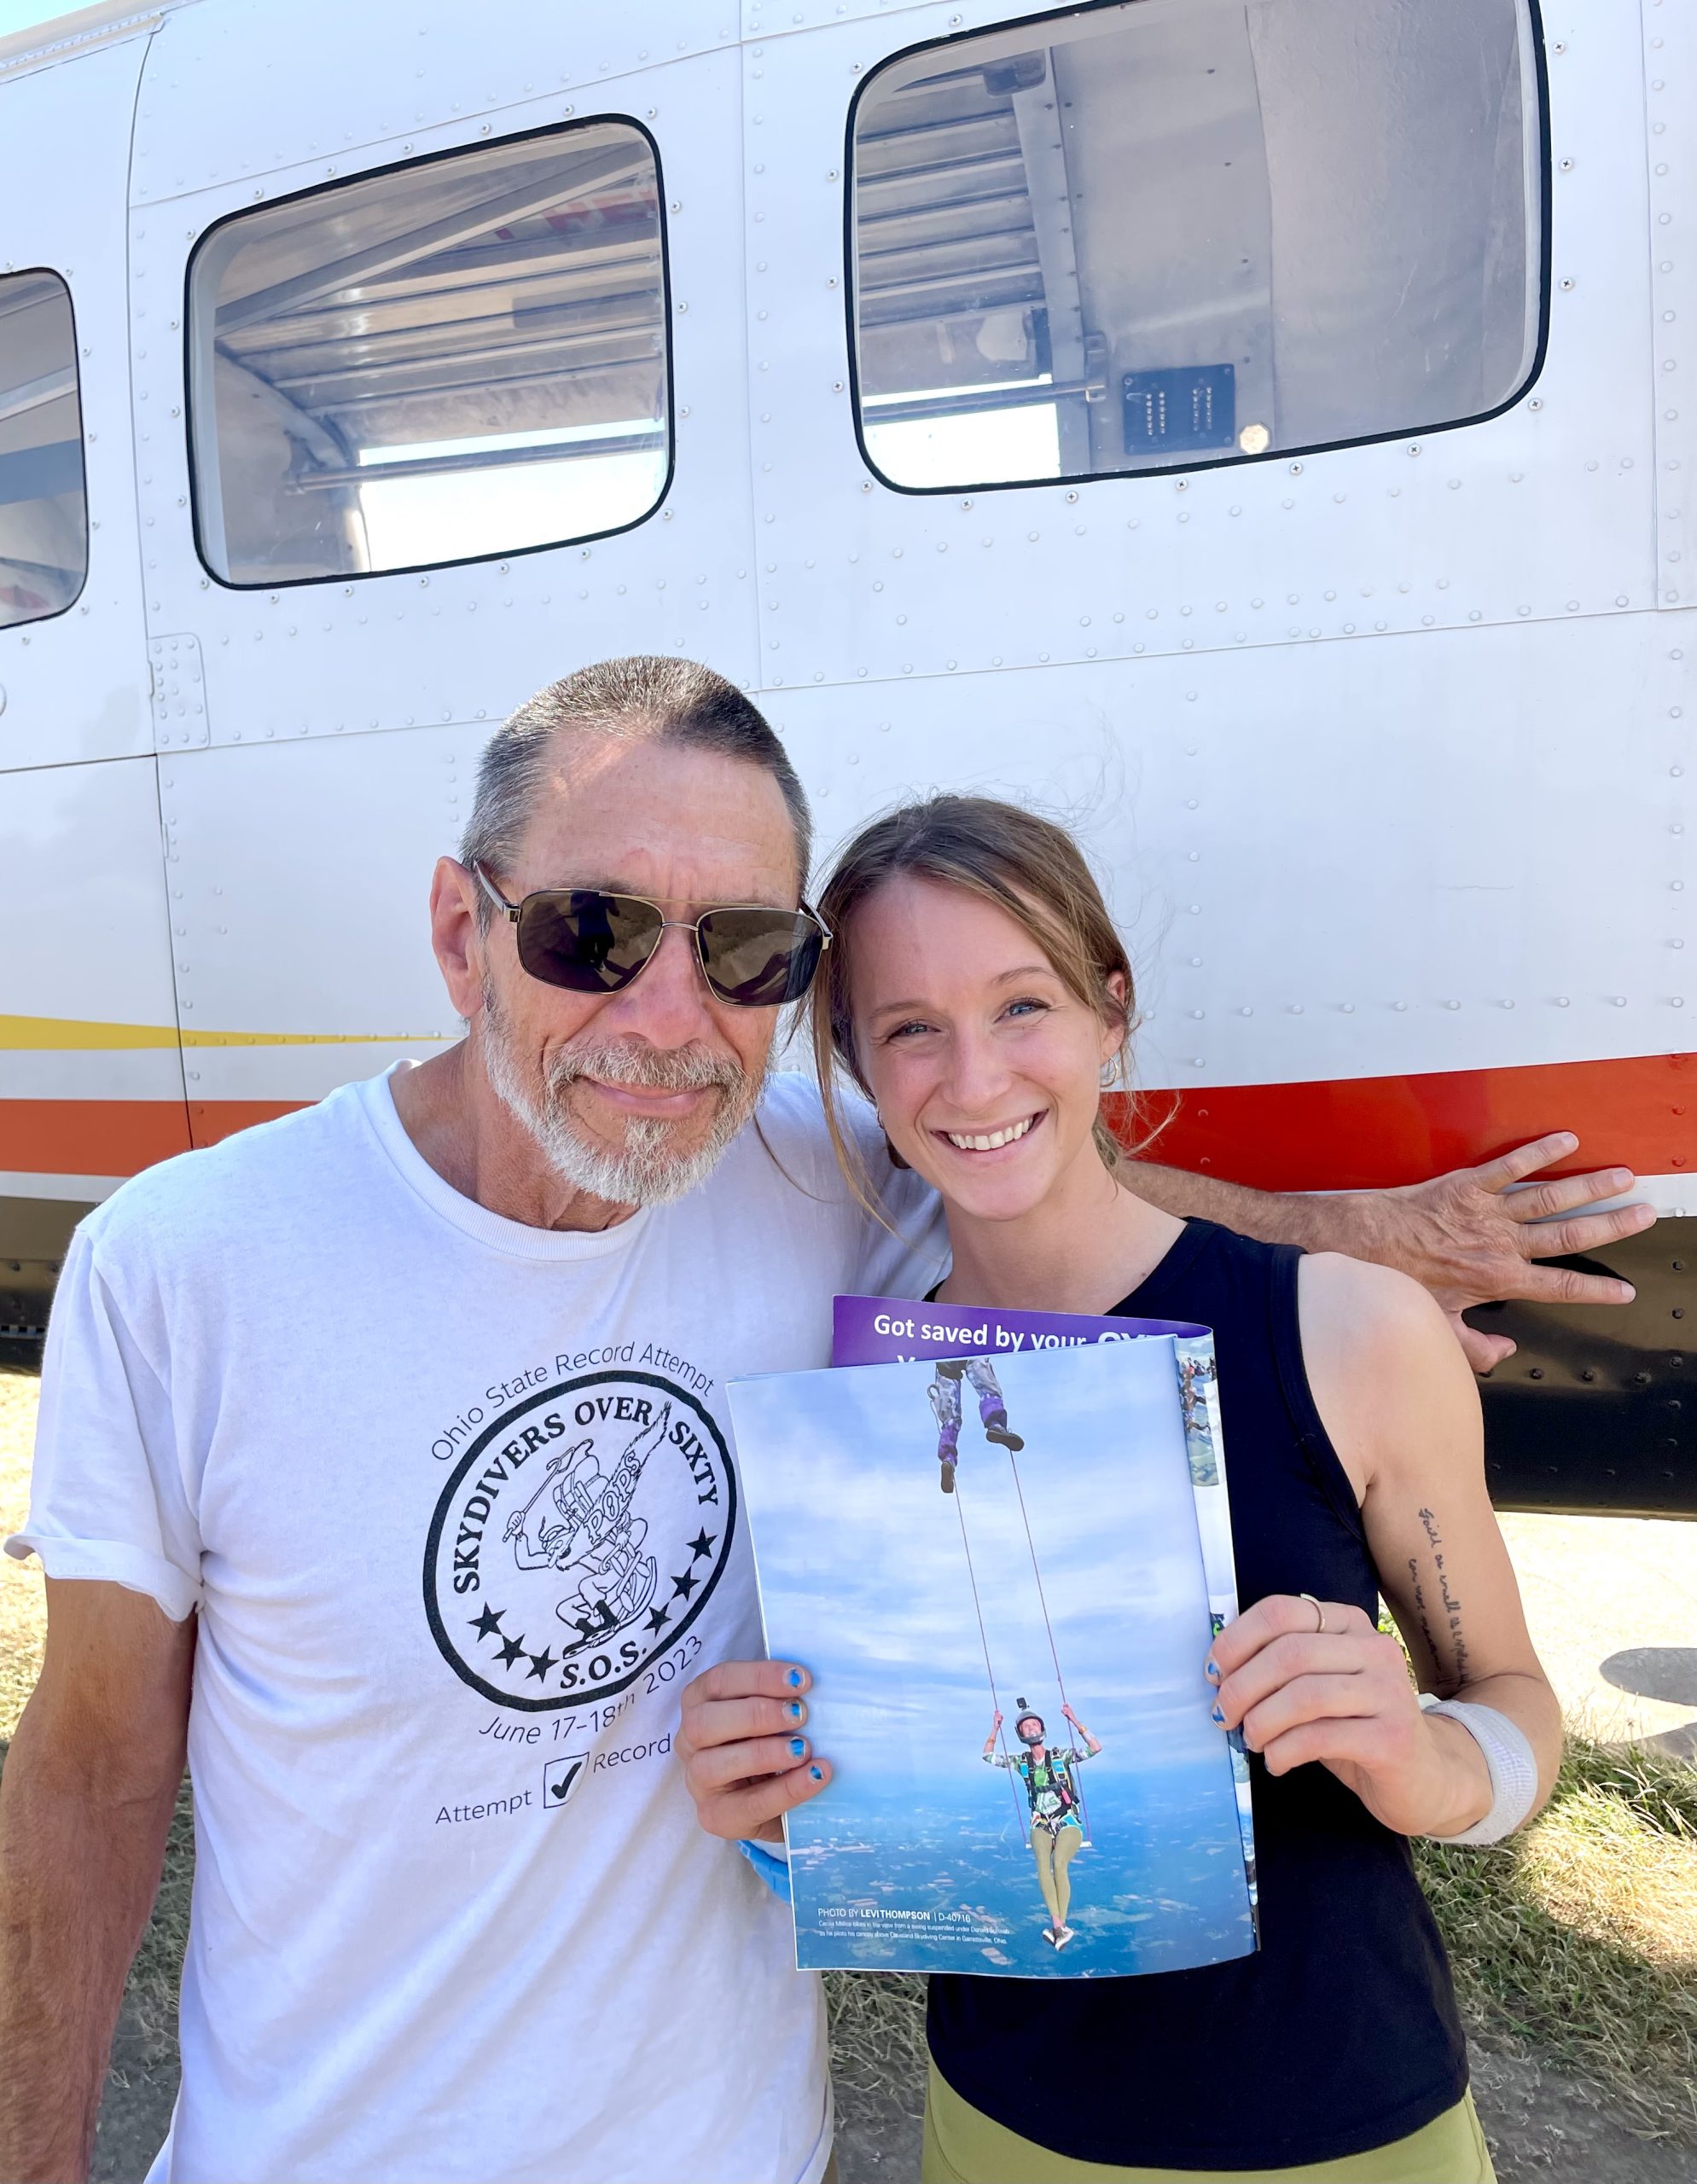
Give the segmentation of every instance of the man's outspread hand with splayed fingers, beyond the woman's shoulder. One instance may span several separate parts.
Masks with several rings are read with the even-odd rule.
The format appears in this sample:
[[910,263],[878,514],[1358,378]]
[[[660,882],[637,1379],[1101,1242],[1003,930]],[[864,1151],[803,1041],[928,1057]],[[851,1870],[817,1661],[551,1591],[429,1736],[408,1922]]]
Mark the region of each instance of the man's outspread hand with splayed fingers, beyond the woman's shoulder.
[[1474,1304],[1524,1297],[1535,1304],[1631,1304],[1631,1282],[1570,1267],[1540,1267],[1540,1258],[1575,1258],[1638,1236],[1656,1221],[1651,1206],[1618,1206],[1586,1214],[1579,1208],[1618,1199],[1631,1190],[1631,1168],[1599,1168],[1594,1175],[1564,1175],[1559,1182],[1522,1184],[1540,1168],[1568,1160],[1579,1140],[1557,1129],[1535,1144],[1487,1160],[1476,1168],[1455,1168],[1428,1184],[1398,1190],[1352,1192],[1363,1234],[1339,1249],[1354,1258],[1376,1258],[1424,1284],[1457,1332],[1474,1372],[1490,1372],[1514,1356],[1507,1334],[1481,1334],[1463,1321]]

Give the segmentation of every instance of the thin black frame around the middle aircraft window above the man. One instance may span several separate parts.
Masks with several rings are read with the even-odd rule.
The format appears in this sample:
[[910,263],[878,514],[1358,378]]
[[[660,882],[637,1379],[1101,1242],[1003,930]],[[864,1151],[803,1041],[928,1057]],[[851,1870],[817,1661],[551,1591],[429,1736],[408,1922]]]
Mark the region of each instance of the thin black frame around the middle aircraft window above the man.
[[[660,491],[653,502],[642,511],[642,515],[631,518],[627,524],[614,524],[607,531],[574,531],[570,537],[544,539],[535,546],[502,546],[494,553],[478,555],[456,555],[450,561],[406,561],[389,568],[360,568],[360,570],[325,570],[321,577],[262,577],[253,583],[245,583],[236,577],[223,577],[205,548],[205,529],[201,522],[201,465],[197,461],[197,402],[194,402],[194,352],[199,345],[199,325],[194,319],[194,273],[201,262],[201,251],[205,251],[214,236],[221,236],[227,227],[238,221],[256,218],[262,212],[275,212],[277,205],[299,205],[315,197],[330,197],[336,190],[358,188],[360,183],[382,181],[391,175],[411,175],[426,166],[441,166],[448,159],[463,159],[467,153],[496,151],[502,144],[535,144],[544,138],[579,135],[583,129],[601,129],[616,124],[631,129],[649,146],[649,157],[653,159],[655,177],[655,205],[660,221],[660,323],[666,336],[664,367],[666,367],[666,474],[660,480]],[[216,411],[212,419],[212,443],[216,448]],[[304,190],[286,190],[282,197],[269,197],[264,203],[236,205],[234,212],[225,212],[221,218],[212,221],[205,232],[194,240],[194,249],[188,253],[188,264],[183,266],[183,456],[188,465],[188,515],[194,535],[194,557],[199,559],[205,574],[221,592],[299,592],[315,583],[376,583],[384,577],[419,577],[439,568],[480,568],[489,561],[518,561],[529,559],[539,553],[559,553],[563,546],[592,546],[598,539],[622,537],[627,531],[640,531],[642,524],[653,522],[653,518],[664,509],[671,498],[673,480],[677,476],[677,387],[673,371],[673,262],[671,262],[671,229],[666,221],[666,170],[660,159],[660,144],[653,129],[638,120],[636,114],[583,114],[572,116],[568,122],[544,122],[535,129],[515,129],[511,135],[500,138],[476,138],[463,144],[446,144],[441,151],[422,153],[413,159],[389,159],[382,166],[363,168],[358,175],[339,175],[334,181],[315,181]],[[223,485],[214,476],[210,480],[218,494]]]

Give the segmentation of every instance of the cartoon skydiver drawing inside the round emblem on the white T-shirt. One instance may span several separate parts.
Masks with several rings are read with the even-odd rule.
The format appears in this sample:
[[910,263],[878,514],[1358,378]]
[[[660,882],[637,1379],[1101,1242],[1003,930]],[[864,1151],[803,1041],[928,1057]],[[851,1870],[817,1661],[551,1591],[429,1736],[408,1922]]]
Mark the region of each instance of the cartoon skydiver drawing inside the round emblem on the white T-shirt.
[[[507,1518],[507,1538],[520,1570],[559,1570],[577,1579],[555,1614],[577,1638],[561,1653],[581,1653],[633,1623],[653,1599],[660,1577],[644,1518],[631,1516],[642,1465],[666,1439],[673,1406],[644,1426],[607,1479],[596,1461],[594,1435],[548,1459],[542,1485]],[[542,1509],[537,1511],[537,1503]]]

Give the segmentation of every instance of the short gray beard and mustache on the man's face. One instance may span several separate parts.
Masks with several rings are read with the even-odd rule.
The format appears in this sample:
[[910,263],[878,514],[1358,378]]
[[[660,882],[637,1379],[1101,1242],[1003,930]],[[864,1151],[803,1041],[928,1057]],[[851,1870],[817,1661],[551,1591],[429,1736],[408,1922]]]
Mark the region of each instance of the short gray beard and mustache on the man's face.
[[[699,1046],[657,1048],[636,1040],[574,1040],[550,1059],[537,1096],[513,1055],[507,1018],[489,985],[483,989],[478,1048],[496,1099],[524,1125],[555,1175],[607,1206],[664,1206],[705,1184],[760,1099],[762,1079],[751,1079],[729,1055],[712,1055]],[[708,1136],[692,1151],[675,1153],[671,1144],[677,1125],[655,1116],[633,1116],[625,1125],[622,1149],[614,1151],[581,1133],[572,1118],[568,1094],[579,1077],[657,1092],[719,1085],[723,1096]]]

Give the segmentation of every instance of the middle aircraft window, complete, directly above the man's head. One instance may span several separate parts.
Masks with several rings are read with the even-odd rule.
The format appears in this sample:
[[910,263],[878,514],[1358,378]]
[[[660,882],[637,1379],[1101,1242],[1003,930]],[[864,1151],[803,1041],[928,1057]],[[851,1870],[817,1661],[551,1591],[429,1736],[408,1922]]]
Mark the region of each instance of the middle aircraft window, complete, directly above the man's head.
[[242,212],[190,266],[201,557],[301,583],[598,537],[668,474],[660,173],[631,122]]

